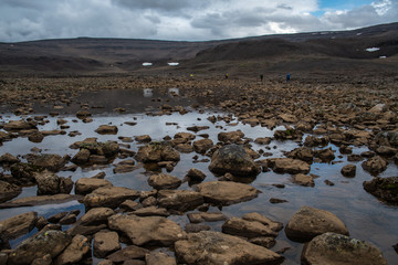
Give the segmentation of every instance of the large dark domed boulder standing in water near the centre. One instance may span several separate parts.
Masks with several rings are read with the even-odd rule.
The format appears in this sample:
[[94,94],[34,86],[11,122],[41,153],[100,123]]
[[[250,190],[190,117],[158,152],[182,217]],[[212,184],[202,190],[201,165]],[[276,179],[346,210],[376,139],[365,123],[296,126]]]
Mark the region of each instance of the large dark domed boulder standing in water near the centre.
[[231,173],[238,177],[255,177],[261,171],[260,166],[238,145],[227,145],[217,150],[209,169],[217,174]]

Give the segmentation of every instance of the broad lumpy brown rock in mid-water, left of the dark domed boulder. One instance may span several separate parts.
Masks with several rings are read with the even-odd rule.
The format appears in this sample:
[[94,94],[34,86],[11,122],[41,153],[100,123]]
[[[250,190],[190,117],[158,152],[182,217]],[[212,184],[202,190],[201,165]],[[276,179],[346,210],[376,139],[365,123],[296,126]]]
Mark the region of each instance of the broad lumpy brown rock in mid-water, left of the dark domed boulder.
[[150,142],[139,147],[135,159],[143,162],[179,161],[180,155],[166,142]]

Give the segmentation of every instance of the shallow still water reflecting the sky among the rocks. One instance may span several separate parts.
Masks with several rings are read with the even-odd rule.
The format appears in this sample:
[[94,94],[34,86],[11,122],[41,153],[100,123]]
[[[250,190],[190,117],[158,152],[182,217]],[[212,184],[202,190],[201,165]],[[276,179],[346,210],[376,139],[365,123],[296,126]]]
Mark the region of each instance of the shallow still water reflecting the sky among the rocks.
[[[179,95],[178,88],[169,88],[165,91],[167,95]],[[140,104],[139,107],[148,106],[154,104],[151,102],[153,98],[157,98],[157,92],[147,88],[144,91],[106,91],[101,95],[102,104],[107,105],[106,108],[113,108],[114,106],[125,106],[128,108],[128,112],[133,112],[136,105]],[[134,94],[136,93],[136,94]],[[90,98],[88,98],[90,96]],[[95,102],[95,98],[100,97],[97,94],[87,94],[81,95],[80,100],[90,100]],[[104,99],[104,98],[108,98]],[[134,98],[134,99],[133,99]],[[179,98],[181,103],[185,100],[179,97],[172,96],[171,98]],[[105,103],[103,103],[105,100]],[[116,103],[114,103],[116,100]],[[126,105],[129,103],[130,105]],[[176,102],[172,102],[176,103]],[[185,102],[185,105],[190,103]],[[72,106],[70,106],[72,107]],[[101,112],[101,109],[98,110]],[[104,110],[103,110],[104,112]],[[33,116],[36,116],[32,115]],[[42,149],[42,153],[57,153],[61,156],[69,155],[73,157],[77,150],[70,149],[69,146],[75,141],[84,140],[88,137],[96,137],[98,141],[106,140],[115,140],[119,144],[122,141],[118,137],[133,137],[140,135],[149,135],[154,141],[163,140],[165,136],[170,136],[171,138],[175,134],[180,131],[188,131],[188,127],[190,126],[209,126],[209,129],[200,130],[197,132],[197,139],[201,139],[200,134],[208,134],[209,138],[213,140],[213,142],[218,142],[218,134],[221,131],[232,131],[232,130],[242,130],[245,134],[245,138],[255,139],[258,137],[272,137],[274,130],[282,129],[283,127],[277,127],[273,130],[270,130],[265,127],[255,126],[251,127],[249,124],[243,125],[238,123],[235,126],[230,126],[224,121],[217,121],[216,124],[210,123],[207,118],[209,116],[226,116],[227,114],[222,113],[213,113],[206,112],[203,114],[198,112],[190,112],[185,115],[180,115],[178,113],[174,113],[171,115],[165,116],[148,116],[143,113],[137,114],[123,114],[115,115],[107,113],[106,115],[94,115],[93,121],[88,124],[84,124],[81,120],[76,120],[75,116],[63,115],[62,117],[67,120],[70,128],[65,129],[66,135],[60,136],[48,136],[40,144],[34,144],[28,140],[28,138],[15,138],[11,141],[4,141],[3,146],[0,147],[0,153],[10,152],[13,156],[25,155],[29,153],[32,148]],[[56,119],[59,117],[48,117],[49,123],[39,126],[40,130],[52,130],[59,129],[56,125]],[[12,114],[6,114],[2,116],[1,121],[8,123],[11,119],[20,119],[20,116],[14,116]],[[232,116],[233,123],[237,123],[237,118]],[[136,125],[130,126],[125,124],[126,121],[134,121]],[[117,135],[98,135],[95,132],[95,129],[100,125],[116,125],[118,127]],[[67,134],[70,131],[77,130],[82,135],[70,137]],[[252,145],[252,149],[259,151],[260,149],[271,152],[270,157],[283,157],[283,151],[290,151],[294,148],[298,147],[297,142],[293,141],[271,141],[269,146],[256,145],[253,141],[250,142]],[[128,142],[128,147],[124,147],[134,151],[137,151],[140,144],[133,141]],[[356,177],[352,179],[347,179],[342,177],[341,169],[345,165],[347,165],[347,156],[343,155],[342,158],[337,158],[341,156],[338,152],[338,148],[334,145],[329,145],[333,150],[335,150],[336,159],[335,161],[341,161],[338,163],[313,163],[311,166],[311,173],[320,176],[315,179],[315,187],[301,187],[292,183],[291,174],[277,174],[272,171],[270,172],[261,172],[251,184],[261,190],[262,193],[260,195],[249,202],[242,202],[239,204],[224,206],[222,208],[222,212],[229,216],[241,216],[244,213],[249,212],[259,212],[264,214],[271,219],[283,222],[284,225],[289,222],[294,212],[296,212],[302,205],[310,205],[314,208],[320,208],[323,210],[331,211],[335,213],[339,219],[344,221],[347,225],[350,236],[364,240],[373,243],[377,247],[379,247],[384,256],[388,259],[389,264],[394,264],[397,261],[397,254],[394,252],[391,247],[394,244],[398,243],[398,232],[397,232],[397,206],[390,206],[379,202],[375,197],[367,193],[363,189],[363,182],[365,180],[371,180],[373,177],[364,171],[360,167],[362,161],[353,162],[357,166]],[[366,151],[367,148],[353,148],[354,153],[360,153]],[[197,168],[201,170],[206,176],[205,181],[213,181],[217,178],[209,171],[208,166],[209,162],[195,162],[193,156],[198,156],[198,160],[203,158],[208,158],[201,156],[196,152],[182,153],[180,152],[180,161],[177,163],[175,169],[170,172],[170,174],[176,176],[180,179],[184,179],[186,173],[191,168]],[[264,159],[265,157],[261,157],[260,159]],[[106,173],[107,180],[113,182],[114,186],[123,186],[135,190],[151,190],[151,187],[148,186],[148,172],[146,168],[142,167],[136,169],[133,172],[128,173],[114,173],[114,165],[119,162],[121,159],[116,159],[113,165],[107,165],[101,169],[93,168],[78,168],[75,172],[70,171],[61,171],[57,174],[61,177],[72,176],[72,180],[76,181],[80,178],[92,177],[101,171]],[[159,171],[166,172],[165,169],[159,169]],[[390,162],[388,169],[380,174],[380,177],[390,177],[396,176],[398,172],[398,167]],[[4,171],[4,173],[9,173]],[[325,184],[325,180],[333,181],[335,183],[334,187],[329,187]],[[282,183],[285,184],[284,189],[277,189],[273,187],[273,183]],[[179,189],[190,189],[188,183],[184,183]],[[34,195],[35,187],[23,188],[23,192],[19,198]],[[73,191],[72,191],[73,193]],[[289,202],[272,204],[270,203],[271,198],[284,199]],[[50,204],[50,205],[41,205],[33,208],[17,208],[17,209],[3,209],[0,210],[0,220],[13,216],[19,213],[28,212],[28,211],[36,211],[39,215],[44,215],[45,218],[62,211],[71,211],[78,209],[82,211],[81,214],[84,213],[83,204],[77,202],[69,202],[63,204]],[[210,209],[211,210],[211,209]],[[178,223],[182,226],[188,222],[188,219],[184,216],[170,216],[170,219],[177,219]],[[209,223],[211,227],[216,231],[221,231],[222,222]],[[66,230],[67,226],[63,226],[63,230]],[[32,234],[33,232],[31,232]],[[27,239],[29,235],[24,235],[11,242],[12,246],[18,245],[22,240]],[[282,247],[290,247],[283,256],[285,256],[286,261],[283,264],[298,264],[300,255],[303,247],[303,244],[298,244],[290,241],[283,231],[280,232],[276,237],[277,244],[272,248],[273,251],[277,251]]]

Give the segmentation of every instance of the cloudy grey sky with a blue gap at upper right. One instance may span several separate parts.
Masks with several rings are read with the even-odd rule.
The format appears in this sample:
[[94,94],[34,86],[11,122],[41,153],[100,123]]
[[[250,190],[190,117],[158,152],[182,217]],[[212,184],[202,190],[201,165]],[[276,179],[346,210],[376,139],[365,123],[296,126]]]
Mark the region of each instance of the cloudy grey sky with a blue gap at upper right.
[[398,21],[398,0],[0,0],[0,42],[206,41]]

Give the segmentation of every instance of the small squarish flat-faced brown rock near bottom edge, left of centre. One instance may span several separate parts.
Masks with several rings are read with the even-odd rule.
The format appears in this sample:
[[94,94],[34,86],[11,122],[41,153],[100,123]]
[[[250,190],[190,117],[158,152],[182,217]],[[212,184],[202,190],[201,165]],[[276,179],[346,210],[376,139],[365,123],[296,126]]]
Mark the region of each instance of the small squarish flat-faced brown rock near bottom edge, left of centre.
[[98,232],[94,235],[94,256],[105,257],[118,250],[121,244],[116,232]]

